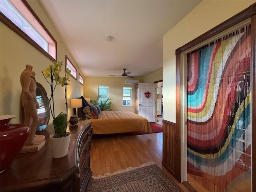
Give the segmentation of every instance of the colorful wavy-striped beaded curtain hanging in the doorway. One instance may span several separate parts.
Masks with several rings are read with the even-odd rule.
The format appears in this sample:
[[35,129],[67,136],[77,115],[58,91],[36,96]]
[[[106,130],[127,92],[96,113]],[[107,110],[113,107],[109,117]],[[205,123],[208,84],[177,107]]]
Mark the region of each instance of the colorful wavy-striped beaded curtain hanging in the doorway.
[[187,55],[188,181],[251,191],[250,25]]

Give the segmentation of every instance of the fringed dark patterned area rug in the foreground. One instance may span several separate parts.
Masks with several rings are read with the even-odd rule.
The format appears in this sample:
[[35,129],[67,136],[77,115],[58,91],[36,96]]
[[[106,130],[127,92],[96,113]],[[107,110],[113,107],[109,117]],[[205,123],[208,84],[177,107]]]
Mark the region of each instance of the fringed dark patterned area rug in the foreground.
[[92,177],[86,192],[183,192],[156,164]]

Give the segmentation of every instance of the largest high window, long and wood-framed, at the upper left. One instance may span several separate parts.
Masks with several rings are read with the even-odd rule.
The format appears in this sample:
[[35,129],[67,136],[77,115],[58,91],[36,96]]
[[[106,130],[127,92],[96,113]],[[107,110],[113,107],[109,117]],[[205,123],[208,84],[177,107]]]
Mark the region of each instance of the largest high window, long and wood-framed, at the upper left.
[[1,0],[0,19],[50,60],[56,61],[57,42],[25,0]]

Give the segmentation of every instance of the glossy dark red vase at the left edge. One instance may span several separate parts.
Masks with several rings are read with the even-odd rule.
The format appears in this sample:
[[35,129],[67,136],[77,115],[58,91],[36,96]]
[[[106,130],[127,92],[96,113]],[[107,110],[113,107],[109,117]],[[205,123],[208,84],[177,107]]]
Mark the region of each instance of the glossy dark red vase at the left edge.
[[10,124],[14,115],[0,116],[0,173],[6,170],[22,150],[28,138],[30,128],[23,124]]

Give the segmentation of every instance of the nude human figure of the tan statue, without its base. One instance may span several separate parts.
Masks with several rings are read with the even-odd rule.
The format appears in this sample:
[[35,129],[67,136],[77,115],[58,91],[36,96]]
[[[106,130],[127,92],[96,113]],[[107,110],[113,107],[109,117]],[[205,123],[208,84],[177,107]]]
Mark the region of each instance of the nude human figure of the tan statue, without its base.
[[26,65],[26,69],[20,75],[20,84],[22,86],[21,103],[24,108],[24,124],[30,128],[30,134],[25,145],[36,145],[34,137],[39,122],[37,109],[39,104],[36,101],[36,73],[32,71],[33,66]]

